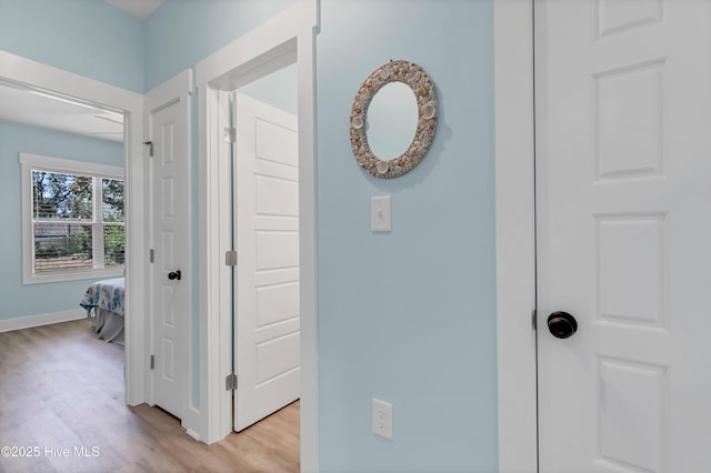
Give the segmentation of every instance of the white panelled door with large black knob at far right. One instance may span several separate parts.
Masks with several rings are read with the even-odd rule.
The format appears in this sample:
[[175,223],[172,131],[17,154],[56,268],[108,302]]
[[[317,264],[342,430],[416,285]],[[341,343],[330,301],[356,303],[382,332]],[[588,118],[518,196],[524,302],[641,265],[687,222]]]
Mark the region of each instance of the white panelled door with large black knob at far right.
[[711,2],[534,7],[540,471],[711,471]]

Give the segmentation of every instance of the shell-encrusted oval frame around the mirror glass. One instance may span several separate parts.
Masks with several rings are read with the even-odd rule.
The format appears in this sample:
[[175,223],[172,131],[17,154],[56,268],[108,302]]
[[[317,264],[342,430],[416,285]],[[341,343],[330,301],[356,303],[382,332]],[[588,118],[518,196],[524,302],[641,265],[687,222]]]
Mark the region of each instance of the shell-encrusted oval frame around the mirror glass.
[[[403,82],[414,92],[418,102],[418,128],[407,151],[392,160],[378,158],[368,144],[365,117],[375,93],[390,82]],[[390,61],[375,69],[362,83],[351,109],[351,148],[361,168],[375,178],[397,178],[411,171],[430,149],[437,130],[437,94],[434,83],[420,66]]]

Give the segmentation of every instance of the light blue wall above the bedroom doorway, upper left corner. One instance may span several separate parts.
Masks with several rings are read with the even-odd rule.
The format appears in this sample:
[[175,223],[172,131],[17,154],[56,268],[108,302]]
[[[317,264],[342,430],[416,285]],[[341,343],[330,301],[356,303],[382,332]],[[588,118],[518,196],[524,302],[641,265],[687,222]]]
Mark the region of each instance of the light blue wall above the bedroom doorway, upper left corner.
[[142,22],[101,0],[0,0],[0,50],[144,89]]

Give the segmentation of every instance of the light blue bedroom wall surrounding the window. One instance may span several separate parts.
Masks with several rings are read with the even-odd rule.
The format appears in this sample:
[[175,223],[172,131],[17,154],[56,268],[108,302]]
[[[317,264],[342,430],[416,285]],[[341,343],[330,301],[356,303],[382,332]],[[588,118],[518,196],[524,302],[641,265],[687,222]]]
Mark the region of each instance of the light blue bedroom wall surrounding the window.
[[78,309],[87,281],[22,284],[20,153],[123,168],[123,144],[0,121],[0,319]]

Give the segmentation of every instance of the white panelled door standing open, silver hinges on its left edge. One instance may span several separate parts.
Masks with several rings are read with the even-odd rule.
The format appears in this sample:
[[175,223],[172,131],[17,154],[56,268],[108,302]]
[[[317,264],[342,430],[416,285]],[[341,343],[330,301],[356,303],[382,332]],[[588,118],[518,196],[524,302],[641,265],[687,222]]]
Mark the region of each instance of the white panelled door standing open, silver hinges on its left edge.
[[237,93],[234,430],[300,395],[297,117]]

